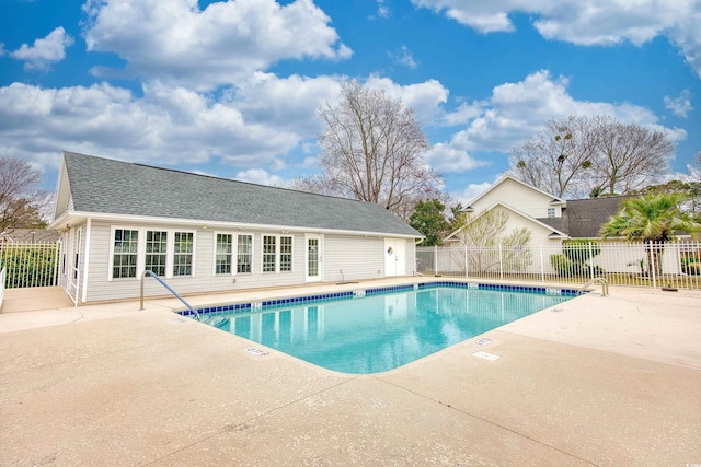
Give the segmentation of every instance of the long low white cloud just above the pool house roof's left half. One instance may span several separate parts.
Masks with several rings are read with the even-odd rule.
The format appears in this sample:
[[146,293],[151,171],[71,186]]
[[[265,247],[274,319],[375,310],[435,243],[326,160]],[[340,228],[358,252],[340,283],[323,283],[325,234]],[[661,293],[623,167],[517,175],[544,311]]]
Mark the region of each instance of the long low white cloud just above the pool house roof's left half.
[[110,156],[260,166],[295,148],[300,136],[248,122],[232,103],[152,83],[143,97],[108,84],[43,89],[0,87],[0,147],[28,153],[61,149]]

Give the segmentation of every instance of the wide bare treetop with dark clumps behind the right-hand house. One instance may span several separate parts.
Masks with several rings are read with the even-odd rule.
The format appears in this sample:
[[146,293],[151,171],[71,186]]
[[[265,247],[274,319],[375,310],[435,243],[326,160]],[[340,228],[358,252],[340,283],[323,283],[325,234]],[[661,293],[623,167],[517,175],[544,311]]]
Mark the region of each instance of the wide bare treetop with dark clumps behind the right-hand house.
[[675,144],[659,130],[610,116],[548,120],[514,148],[509,173],[559,197],[629,195],[669,173]]

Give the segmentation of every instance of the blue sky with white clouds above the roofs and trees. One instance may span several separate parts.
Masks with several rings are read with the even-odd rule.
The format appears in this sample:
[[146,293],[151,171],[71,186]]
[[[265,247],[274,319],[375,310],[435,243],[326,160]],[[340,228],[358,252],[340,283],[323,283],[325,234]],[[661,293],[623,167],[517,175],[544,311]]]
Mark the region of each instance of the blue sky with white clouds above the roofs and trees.
[[456,201],[550,118],[613,115],[701,151],[701,0],[2,0],[0,153],[62,150],[281,184],[319,170],[348,78],[416,110]]

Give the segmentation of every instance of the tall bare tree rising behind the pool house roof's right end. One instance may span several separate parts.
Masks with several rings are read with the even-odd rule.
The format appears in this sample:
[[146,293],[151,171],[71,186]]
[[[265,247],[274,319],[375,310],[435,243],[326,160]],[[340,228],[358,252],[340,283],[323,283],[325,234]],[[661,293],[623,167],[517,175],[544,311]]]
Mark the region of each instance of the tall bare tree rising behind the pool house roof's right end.
[[375,202],[404,220],[417,201],[440,197],[443,179],[424,162],[426,136],[401,100],[348,81],[318,114],[322,173],[294,187]]

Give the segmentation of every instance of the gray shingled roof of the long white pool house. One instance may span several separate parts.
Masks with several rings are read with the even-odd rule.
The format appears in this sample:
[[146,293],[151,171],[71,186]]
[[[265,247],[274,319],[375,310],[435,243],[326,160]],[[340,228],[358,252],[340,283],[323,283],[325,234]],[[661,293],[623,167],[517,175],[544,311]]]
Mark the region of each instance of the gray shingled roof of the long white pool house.
[[64,157],[79,212],[421,236],[375,203],[73,152]]

